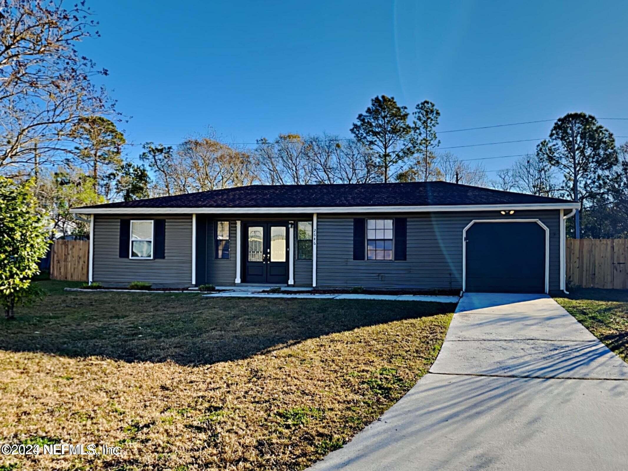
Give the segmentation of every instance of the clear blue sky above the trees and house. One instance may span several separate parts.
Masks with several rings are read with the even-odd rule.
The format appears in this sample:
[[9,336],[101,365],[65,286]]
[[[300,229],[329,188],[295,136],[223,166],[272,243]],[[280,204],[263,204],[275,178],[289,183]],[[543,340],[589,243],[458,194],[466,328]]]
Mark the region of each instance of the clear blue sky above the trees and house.
[[[279,133],[349,137],[379,94],[409,108],[432,100],[440,131],[570,111],[628,117],[627,2],[88,3],[102,37],[81,51],[109,69],[104,84],[132,116],[122,127],[136,144],[176,144],[207,126],[237,143]],[[628,136],[628,121],[601,122]],[[551,124],[442,134],[441,147],[543,138]],[[534,151],[536,142],[451,151],[494,157]]]

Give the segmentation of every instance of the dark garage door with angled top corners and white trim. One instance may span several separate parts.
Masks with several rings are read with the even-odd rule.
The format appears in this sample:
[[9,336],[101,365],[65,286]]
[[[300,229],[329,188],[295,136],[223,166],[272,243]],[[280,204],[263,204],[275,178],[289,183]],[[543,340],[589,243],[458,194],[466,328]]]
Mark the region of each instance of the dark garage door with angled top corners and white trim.
[[545,230],[536,222],[476,222],[466,243],[467,291],[545,292]]

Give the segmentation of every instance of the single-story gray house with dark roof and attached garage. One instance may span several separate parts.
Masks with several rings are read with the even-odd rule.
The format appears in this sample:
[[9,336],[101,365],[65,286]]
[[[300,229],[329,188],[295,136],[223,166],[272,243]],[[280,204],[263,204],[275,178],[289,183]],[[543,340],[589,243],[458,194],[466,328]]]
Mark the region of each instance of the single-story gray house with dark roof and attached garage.
[[89,281],[550,293],[579,204],[443,181],[253,185],[74,208]]

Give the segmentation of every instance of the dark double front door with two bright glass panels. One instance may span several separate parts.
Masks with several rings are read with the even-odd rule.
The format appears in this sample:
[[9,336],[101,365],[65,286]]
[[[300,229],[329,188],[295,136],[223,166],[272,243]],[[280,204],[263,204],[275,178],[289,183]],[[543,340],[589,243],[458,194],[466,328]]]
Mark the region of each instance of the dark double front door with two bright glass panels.
[[247,222],[244,256],[246,283],[288,283],[288,224]]

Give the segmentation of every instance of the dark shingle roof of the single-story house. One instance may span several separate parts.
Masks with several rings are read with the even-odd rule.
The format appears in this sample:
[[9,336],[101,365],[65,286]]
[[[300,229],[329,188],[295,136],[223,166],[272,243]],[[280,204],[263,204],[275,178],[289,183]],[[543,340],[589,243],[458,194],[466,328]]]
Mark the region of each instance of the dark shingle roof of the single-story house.
[[84,208],[299,208],[570,203],[445,181],[337,185],[252,185]]

